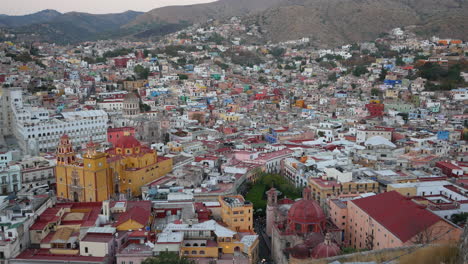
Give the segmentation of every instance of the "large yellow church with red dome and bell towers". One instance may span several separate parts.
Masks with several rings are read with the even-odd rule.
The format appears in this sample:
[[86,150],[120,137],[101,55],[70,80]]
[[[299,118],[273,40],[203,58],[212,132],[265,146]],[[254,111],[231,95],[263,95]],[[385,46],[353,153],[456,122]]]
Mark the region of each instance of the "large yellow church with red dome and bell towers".
[[63,135],[57,148],[57,197],[75,202],[100,202],[125,194],[141,195],[141,186],[172,171],[172,159],[158,157],[131,135],[100,152],[90,141],[79,159],[70,138]]

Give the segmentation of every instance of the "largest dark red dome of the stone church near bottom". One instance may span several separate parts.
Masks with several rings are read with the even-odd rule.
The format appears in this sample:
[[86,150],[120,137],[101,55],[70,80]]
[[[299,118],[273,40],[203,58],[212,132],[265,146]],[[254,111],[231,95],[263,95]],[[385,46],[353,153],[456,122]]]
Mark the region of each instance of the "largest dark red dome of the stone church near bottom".
[[300,200],[289,209],[288,220],[300,224],[325,222],[325,214],[320,205],[314,200]]

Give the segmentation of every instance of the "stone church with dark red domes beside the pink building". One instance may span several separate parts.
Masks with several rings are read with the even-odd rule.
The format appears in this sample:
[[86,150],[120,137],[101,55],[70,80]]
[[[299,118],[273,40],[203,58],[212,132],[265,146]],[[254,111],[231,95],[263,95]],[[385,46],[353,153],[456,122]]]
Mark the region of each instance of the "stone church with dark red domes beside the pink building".
[[[340,254],[341,232],[304,188],[302,199],[278,200],[275,188],[267,191],[267,235],[271,237],[271,252],[275,263],[286,264],[333,257]],[[335,239],[336,238],[336,239]]]

